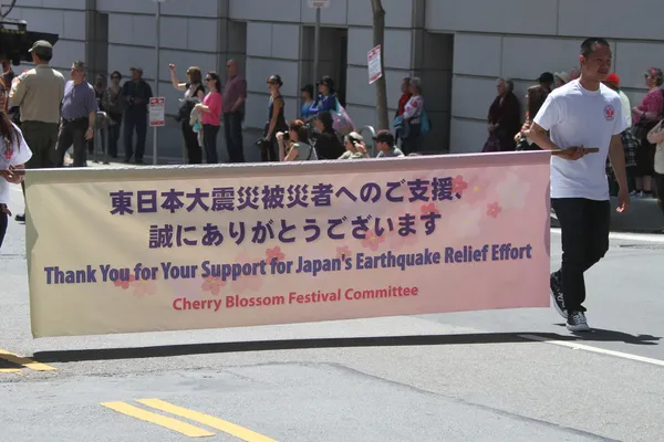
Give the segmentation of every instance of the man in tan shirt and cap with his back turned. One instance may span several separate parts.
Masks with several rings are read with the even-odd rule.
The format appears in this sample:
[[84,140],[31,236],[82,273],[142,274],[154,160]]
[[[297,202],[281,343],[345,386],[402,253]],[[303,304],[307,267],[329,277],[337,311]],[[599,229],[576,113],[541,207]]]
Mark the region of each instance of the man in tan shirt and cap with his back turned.
[[[51,69],[53,45],[45,40],[34,42],[32,49],[34,67],[17,76],[9,97],[21,109],[21,129],[32,150],[25,164],[29,169],[55,166],[55,144],[60,124],[60,103],[64,95],[64,76]],[[17,221],[24,221],[23,214]]]

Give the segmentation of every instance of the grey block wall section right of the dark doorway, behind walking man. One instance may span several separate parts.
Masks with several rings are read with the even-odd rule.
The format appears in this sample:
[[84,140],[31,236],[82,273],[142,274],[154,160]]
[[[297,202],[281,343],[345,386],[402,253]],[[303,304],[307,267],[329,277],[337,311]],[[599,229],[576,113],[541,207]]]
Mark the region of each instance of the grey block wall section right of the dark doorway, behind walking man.
[[588,36],[610,40],[621,86],[637,104],[645,94],[643,73],[650,66],[664,67],[661,19],[643,13],[661,6],[657,0],[634,0],[630,6],[624,0],[428,1],[426,29],[455,33],[452,151],[484,146],[497,77],[513,78],[523,102],[526,88],[540,73],[579,65],[579,45]]

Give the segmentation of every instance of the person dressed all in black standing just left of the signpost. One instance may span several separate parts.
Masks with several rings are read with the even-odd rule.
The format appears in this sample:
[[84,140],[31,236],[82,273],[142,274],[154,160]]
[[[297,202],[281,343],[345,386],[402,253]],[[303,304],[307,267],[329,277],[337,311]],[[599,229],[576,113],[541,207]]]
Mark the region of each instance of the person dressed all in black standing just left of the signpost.
[[[122,86],[122,97],[126,102],[124,113],[125,162],[134,157],[137,165],[143,164],[145,138],[147,137],[147,118],[152,87],[143,80],[143,69],[132,67],[132,81]],[[134,129],[136,130],[136,150],[134,150]],[[135,152],[135,156],[134,156]]]

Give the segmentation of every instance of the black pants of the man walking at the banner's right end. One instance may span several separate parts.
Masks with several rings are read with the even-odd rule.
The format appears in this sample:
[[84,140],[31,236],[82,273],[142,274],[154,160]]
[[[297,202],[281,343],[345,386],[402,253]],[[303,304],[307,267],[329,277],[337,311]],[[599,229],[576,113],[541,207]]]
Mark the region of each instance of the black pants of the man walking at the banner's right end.
[[611,203],[584,198],[551,199],[562,232],[562,266],[559,274],[568,312],[585,312],[583,273],[609,250]]

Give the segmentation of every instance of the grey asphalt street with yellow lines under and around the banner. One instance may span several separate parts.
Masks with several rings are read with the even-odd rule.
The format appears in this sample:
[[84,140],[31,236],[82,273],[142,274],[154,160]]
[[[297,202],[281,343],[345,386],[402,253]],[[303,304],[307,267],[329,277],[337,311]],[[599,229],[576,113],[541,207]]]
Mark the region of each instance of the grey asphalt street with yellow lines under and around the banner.
[[0,441],[664,441],[663,264],[663,236],[614,238],[585,336],[544,308],[32,339],[12,221]]

